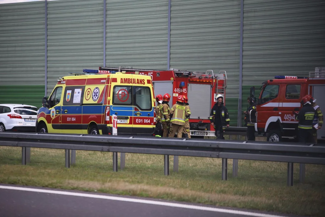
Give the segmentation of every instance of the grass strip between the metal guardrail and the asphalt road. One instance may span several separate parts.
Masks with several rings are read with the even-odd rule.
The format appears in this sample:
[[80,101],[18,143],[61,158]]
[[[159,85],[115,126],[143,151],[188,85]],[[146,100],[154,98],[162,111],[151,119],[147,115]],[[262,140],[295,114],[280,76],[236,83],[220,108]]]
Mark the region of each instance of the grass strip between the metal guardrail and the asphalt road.
[[[179,172],[164,176],[163,156],[126,153],[125,169],[112,171],[112,153],[76,151],[76,165],[65,168],[64,150],[31,150],[31,163],[21,165],[21,148],[0,147],[0,183],[78,189],[139,197],[204,203],[308,216],[325,213],[325,167],[306,165],[299,183],[287,186],[287,164],[239,160],[238,177],[221,180],[221,159],[179,157]],[[119,168],[120,169],[120,168]]]

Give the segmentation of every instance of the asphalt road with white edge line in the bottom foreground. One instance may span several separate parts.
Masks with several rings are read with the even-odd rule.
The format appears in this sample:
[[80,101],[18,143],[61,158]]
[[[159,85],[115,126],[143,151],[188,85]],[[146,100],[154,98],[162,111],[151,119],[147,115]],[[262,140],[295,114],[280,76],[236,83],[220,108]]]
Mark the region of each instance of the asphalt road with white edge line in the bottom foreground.
[[275,217],[276,214],[95,192],[0,185],[0,216]]

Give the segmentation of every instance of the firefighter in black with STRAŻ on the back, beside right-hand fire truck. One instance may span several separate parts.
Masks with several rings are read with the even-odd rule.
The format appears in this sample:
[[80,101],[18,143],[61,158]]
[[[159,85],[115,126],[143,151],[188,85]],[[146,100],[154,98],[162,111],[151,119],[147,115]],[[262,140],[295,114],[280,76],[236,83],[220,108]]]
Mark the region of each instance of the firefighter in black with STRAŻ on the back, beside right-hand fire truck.
[[296,114],[296,120],[298,123],[298,141],[303,143],[313,143],[313,120],[315,115],[315,109],[311,106],[307,95],[301,99],[301,104],[303,105],[299,114]]

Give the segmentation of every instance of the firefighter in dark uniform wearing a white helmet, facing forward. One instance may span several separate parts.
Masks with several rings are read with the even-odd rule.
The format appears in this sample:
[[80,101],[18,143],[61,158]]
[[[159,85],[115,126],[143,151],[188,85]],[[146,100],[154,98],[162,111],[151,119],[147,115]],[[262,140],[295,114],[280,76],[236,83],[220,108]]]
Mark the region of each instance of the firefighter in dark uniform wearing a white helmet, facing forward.
[[229,127],[229,115],[226,106],[223,105],[223,96],[218,94],[215,97],[215,104],[210,112],[210,121],[215,129],[217,139],[225,139],[223,132],[226,127]]

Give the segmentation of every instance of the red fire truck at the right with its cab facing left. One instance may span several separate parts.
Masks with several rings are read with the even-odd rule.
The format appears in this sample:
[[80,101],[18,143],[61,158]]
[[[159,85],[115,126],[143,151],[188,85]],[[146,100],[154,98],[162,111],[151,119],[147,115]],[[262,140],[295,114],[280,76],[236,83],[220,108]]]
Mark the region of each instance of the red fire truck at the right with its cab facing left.
[[[256,111],[250,111],[249,122],[258,134],[267,135],[269,142],[296,142],[298,121],[295,114],[302,108],[301,99],[310,94],[325,112],[325,72],[309,73],[309,77],[277,75],[262,83],[256,99],[251,88],[251,103],[257,102]],[[318,140],[325,139],[325,126],[317,131]]]

